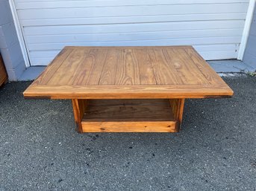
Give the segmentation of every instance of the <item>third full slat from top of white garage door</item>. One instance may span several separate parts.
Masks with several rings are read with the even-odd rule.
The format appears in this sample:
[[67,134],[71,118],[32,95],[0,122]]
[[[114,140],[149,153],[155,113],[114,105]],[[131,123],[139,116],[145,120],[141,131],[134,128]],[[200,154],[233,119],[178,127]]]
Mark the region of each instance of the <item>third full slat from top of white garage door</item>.
[[[27,35],[49,35],[49,34],[86,34],[86,33],[134,33],[147,31],[168,30],[207,30],[207,29],[232,29],[242,28],[243,20],[232,21],[202,21],[202,22],[158,22],[126,25],[68,25],[68,26],[40,26],[24,27]],[[46,36],[47,37],[47,36]],[[113,39],[114,40],[114,39]]]

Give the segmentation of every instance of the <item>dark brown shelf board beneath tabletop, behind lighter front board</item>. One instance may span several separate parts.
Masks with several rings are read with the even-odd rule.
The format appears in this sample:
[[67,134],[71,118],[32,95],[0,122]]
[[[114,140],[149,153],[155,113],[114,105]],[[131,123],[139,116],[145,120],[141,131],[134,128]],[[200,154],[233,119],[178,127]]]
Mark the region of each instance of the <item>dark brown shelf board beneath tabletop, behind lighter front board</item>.
[[168,100],[90,100],[84,121],[169,121],[175,120]]

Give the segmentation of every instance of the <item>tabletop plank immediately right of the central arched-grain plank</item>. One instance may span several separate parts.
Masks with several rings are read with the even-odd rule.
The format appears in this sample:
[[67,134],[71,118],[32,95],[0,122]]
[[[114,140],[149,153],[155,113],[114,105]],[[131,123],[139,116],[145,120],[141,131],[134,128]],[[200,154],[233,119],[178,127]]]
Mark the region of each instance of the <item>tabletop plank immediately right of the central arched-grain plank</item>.
[[139,65],[140,71],[140,84],[157,84],[157,81],[154,77],[154,70],[152,66],[152,60],[149,56],[149,51],[145,49],[137,49],[135,50],[135,54],[137,57],[137,62]]

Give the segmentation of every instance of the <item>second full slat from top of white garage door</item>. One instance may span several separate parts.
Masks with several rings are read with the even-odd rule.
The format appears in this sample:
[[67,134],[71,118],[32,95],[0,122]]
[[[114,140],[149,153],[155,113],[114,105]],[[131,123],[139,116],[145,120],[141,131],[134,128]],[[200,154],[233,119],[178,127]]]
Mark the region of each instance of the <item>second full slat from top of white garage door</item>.
[[240,20],[246,19],[246,13],[212,13],[187,15],[157,15],[157,16],[107,16],[65,19],[24,19],[23,26],[54,26],[54,25],[110,25],[145,22],[187,22],[205,20]]

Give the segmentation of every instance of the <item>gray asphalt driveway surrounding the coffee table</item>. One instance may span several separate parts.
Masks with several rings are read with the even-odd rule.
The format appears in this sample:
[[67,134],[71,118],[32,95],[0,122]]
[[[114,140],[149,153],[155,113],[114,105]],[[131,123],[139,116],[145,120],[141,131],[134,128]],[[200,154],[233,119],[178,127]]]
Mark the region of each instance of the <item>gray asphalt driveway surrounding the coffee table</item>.
[[187,100],[183,129],[78,134],[70,100],[0,89],[0,190],[256,190],[256,77],[231,99]]

